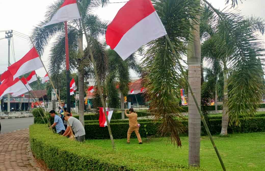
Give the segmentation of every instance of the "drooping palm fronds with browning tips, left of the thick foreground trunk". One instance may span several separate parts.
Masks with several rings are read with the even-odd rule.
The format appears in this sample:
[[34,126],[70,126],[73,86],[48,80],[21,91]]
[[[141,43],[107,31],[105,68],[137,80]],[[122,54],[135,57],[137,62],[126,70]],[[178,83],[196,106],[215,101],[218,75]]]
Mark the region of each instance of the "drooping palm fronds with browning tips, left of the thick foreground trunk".
[[[185,0],[154,1],[154,8],[165,26],[179,59],[187,50],[189,29],[193,27],[189,19],[194,19],[197,14],[195,4],[196,1]],[[179,134],[184,131],[183,125],[174,119],[176,116],[182,117],[178,101],[180,90],[176,86],[180,84],[182,75],[179,72],[177,59],[165,37],[151,41],[146,47],[148,50],[142,67],[146,97],[151,101],[149,111],[156,113],[156,120],[162,120],[159,128],[161,136],[170,133],[171,142],[181,146]]]

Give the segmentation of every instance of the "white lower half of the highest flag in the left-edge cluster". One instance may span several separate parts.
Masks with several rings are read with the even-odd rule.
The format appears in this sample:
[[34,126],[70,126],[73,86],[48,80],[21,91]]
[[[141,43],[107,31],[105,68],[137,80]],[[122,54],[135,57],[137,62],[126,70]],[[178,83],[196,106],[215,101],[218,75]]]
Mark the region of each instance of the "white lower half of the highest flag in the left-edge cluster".
[[30,71],[40,69],[42,67],[43,65],[39,57],[31,59],[19,67],[19,70],[17,70],[16,74],[13,76],[13,79],[19,77],[20,75],[29,73]]

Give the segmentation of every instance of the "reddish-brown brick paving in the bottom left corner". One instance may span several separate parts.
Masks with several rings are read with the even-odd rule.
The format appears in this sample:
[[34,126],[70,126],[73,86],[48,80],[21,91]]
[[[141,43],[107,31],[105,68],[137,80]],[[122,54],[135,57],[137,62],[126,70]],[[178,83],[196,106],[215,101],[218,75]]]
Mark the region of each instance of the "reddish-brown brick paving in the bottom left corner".
[[41,171],[29,156],[29,129],[0,135],[0,171]]

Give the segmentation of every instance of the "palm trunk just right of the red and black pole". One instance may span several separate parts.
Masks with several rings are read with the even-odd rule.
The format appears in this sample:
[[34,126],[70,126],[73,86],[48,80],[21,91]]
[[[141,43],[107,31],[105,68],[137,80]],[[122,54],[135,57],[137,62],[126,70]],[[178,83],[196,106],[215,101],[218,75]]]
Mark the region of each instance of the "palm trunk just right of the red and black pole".
[[[78,52],[81,54],[83,57],[83,34],[79,36],[77,39],[78,41]],[[84,109],[85,109],[85,104],[84,104],[84,72],[83,68],[78,69],[78,87],[79,87],[79,120],[82,123],[83,126],[85,126],[85,119],[84,119]]]

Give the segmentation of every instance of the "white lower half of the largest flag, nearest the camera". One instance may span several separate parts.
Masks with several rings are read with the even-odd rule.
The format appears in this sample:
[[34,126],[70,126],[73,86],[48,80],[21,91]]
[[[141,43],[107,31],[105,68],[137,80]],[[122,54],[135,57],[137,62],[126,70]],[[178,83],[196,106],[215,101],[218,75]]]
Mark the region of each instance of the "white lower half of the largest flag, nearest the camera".
[[114,51],[125,60],[143,46],[143,44],[164,35],[166,35],[166,30],[157,15],[157,12],[154,11],[128,30],[114,48]]

